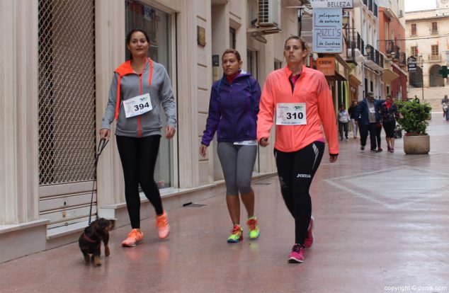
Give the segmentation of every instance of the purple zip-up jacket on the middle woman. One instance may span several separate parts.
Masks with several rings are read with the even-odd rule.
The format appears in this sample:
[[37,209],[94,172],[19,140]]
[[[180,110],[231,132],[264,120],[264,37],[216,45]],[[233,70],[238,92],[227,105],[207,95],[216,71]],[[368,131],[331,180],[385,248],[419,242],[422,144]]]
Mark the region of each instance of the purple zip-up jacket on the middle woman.
[[239,74],[232,84],[226,76],[212,85],[208,120],[201,144],[209,146],[217,132],[218,142],[256,139],[261,86],[251,74]]

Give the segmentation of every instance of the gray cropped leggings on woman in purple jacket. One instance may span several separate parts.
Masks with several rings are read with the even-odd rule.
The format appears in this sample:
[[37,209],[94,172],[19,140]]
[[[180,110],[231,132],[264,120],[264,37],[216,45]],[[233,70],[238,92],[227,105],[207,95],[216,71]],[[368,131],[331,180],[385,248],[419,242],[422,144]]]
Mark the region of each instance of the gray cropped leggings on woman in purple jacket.
[[218,158],[222,164],[227,195],[245,195],[251,192],[251,175],[256,161],[257,146],[219,142]]

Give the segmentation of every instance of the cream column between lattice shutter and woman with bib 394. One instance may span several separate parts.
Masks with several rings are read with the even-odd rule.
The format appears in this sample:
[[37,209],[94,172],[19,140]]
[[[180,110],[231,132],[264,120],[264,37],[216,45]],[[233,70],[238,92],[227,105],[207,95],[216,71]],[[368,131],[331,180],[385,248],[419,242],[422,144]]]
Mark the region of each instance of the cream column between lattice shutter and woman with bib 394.
[[[125,1],[95,1],[95,67],[96,67],[96,125],[101,127],[113,72],[125,61]],[[115,133],[115,123],[113,132]],[[125,202],[123,172],[115,144],[115,136],[103,150],[97,167],[98,206]]]

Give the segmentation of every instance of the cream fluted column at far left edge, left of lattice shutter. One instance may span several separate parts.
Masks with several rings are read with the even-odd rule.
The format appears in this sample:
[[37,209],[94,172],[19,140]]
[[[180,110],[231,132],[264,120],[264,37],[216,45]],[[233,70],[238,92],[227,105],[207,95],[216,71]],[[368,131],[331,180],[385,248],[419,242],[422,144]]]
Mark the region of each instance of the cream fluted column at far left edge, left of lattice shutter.
[[38,1],[0,13],[0,224],[18,224],[38,219]]

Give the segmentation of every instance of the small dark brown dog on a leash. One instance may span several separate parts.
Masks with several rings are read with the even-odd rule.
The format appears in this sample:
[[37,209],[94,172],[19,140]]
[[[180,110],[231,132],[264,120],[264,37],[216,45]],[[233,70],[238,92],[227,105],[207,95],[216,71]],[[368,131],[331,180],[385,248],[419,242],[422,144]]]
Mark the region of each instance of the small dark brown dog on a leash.
[[[108,246],[109,231],[114,229],[114,226],[115,220],[105,218],[96,219],[89,226],[86,226],[78,240],[79,248],[84,255],[86,263],[90,263],[93,260],[96,266],[101,265],[101,241],[104,243],[105,255],[110,255]],[[91,258],[89,258],[89,254],[92,255]]]

